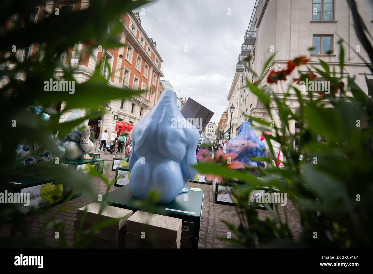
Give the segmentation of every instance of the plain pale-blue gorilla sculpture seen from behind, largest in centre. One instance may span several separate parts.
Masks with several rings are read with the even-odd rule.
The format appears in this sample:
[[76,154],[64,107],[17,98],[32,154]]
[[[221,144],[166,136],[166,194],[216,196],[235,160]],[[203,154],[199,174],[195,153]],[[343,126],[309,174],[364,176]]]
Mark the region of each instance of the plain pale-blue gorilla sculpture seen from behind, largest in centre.
[[154,108],[132,130],[132,194],[143,199],[154,189],[160,193],[159,203],[173,201],[197,174],[190,165],[197,164],[195,150],[199,139],[197,128],[181,114],[176,93],[170,89],[162,91]]

